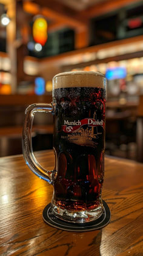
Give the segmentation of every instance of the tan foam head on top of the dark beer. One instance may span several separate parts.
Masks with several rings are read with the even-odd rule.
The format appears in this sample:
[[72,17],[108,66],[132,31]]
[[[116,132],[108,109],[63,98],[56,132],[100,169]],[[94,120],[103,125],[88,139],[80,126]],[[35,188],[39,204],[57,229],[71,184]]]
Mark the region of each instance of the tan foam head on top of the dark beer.
[[99,72],[71,71],[59,73],[53,77],[53,89],[71,87],[105,88],[105,76]]

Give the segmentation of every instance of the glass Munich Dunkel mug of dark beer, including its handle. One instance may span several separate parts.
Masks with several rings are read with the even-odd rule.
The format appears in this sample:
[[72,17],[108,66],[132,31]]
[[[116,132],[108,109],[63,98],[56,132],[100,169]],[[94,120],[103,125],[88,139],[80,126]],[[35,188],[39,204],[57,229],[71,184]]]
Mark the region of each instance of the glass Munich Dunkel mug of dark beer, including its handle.
[[[103,212],[106,80],[98,72],[65,72],[53,78],[53,101],[25,111],[23,154],[28,167],[53,185],[51,208],[64,221],[87,223]],[[36,112],[54,116],[55,168],[47,171],[32,150]]]

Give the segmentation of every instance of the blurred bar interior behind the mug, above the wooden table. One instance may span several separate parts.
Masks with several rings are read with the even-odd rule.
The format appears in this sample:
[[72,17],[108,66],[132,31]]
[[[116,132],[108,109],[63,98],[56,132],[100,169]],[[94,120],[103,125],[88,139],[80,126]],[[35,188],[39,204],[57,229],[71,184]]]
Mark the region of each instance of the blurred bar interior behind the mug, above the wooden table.
[[[25,108],[76,70],[107,78],[106,154],[143,161],[141,0],[0,0],[0,156],[22,153]],[[52,134],[53,117],[36,114],[33,150]]]

